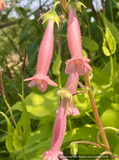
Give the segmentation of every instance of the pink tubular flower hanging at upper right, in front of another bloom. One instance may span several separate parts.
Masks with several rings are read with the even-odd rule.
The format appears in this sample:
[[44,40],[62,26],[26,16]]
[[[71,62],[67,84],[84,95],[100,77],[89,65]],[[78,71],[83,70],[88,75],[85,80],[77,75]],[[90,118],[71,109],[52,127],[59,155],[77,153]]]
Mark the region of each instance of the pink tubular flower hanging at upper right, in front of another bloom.
[[87,63],[90,59],[83,58],[82,55],[80,26],[76,10],[72,6],[69,6],[67,40],[72,58],[66,61],[65,73],[71,74],[77,72],[79,75],[83,75],[86,69],[92,71],[92,68]]

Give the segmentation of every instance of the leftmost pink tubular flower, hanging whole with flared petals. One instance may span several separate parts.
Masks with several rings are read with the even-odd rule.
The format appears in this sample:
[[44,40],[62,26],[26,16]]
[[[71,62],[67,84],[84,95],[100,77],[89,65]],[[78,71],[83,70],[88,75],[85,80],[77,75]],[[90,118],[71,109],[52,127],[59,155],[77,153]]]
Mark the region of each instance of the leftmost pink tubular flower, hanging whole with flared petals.
[[51,17],[48,21],[48,25],[40,45],[36,74],[33,77],[24,80],[31,80],[28,86],[33,87],[37,84],[38,89],[42,92],[47,89],[47,84],[57,86],[57,84],[47,76],[53,53],[53,29],[54,20],[53,17]]

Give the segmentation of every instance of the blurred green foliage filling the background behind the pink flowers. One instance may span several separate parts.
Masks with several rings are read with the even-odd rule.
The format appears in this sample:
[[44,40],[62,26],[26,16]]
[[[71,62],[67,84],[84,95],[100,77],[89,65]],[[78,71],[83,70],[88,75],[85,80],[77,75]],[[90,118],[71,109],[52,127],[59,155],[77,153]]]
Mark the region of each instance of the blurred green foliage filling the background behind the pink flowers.
[[[81,27],[83,50],[91,59],[90,65],[93,68],[91,85],[95,101],[103,126],[119,128],[119,2],[118,0],[105,0],[105,14],[103,14],[101,0],[93,0],[98,19],[91,8],[90,1],[82,0],[82,2],[87,8],[82,9],[82,13],[77,12],[77,16]],[[26,59],[24,78],[33,76],[36,71],[39,46],[45,31],[42,19],[37,20],[52,7],[54,1],[6,0],[5,3],[8,8],[3,9],[0,14],[0,65],[6,97],[18,121],[21,115],[21,104],[17,102],[19,101],[17,94],[22,92],[23,61]],[[62,12],[59,6],[56,11],[60,16]],[[100,24],[102,30],[105,31],[105,25],[100,13],[103,18],[106,18],[106,24],[116,42],[116,51],[112,55],[113,76],[110,58],[102,50],[103,34],[98,26]],[[66,32],[67,22],[61,20],[60,27],[55,26],[54,29],[54,56],[48,71],[51,79],[59,86],[57,88],[48,86],[47,91],[41,93],[37,86],[28,88],[28,82],[24,83],[25,103],[31,120],[31,137],[24,148],[27,160],[42,159],[41,155],[50,148],[56,110],[60,102],[55,94],[59,87],[65,86],[68,78],[68,75],[64,73],[65,61],[70,58]],[[83,77],[80,77],[80,81],[84,83]],[[69,155],[69,145],[72,141],[87,140],[95,143],[97,141],[98,129],[87,93],[75,96],[74,106],[79,109],[80,115],[67,117],[67,132],[61,148],[64,155]],[[9,117],[1,94],[0,110]],[[7,130],[3,116],[0,115],[0,119],[0,128]],[[106,133],[111,151],[119,155],[118,137],[114,131],[108,130]],[[0,137],[0,160],[11,160],[12,154],[5,146],[7,133],[0,131]],[[104,151],[87,144],[79,144],[78,147],[78,154],[100,154]],[[21,150],[16,149],[14,155],[15,160],[23,160]]]

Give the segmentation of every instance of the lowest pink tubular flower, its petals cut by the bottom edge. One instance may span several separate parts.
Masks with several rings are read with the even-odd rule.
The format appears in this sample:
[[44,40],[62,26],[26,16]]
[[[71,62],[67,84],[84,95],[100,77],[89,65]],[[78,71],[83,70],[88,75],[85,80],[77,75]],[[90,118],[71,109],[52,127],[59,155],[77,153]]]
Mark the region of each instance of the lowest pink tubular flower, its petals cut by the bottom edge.
[[58,114],[54,123],[51,149],[43,154],[45,155],[43,160],[47,158],[48,160],[59,160],[60,158],[58,155],[63,154],[60,151],[60,147],[66,130],[66,106],[67,100],[61,100]]

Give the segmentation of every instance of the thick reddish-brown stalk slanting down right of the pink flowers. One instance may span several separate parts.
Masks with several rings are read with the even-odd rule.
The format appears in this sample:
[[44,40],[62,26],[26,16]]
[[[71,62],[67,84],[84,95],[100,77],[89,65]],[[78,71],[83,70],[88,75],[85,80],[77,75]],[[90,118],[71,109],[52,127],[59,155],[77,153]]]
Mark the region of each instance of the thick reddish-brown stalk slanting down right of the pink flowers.
[[109,146],[105,131],[103,129],[103,126],[102,126],[102,123],[101,123],[101,120],[100,120],[100,117],[99,117],[99,114],[98,114],[98,110],[97,110],[97,107],[96,107],[96,103],[95,103],[95,100],[94,100],[94,97],[93,97],[88,71],[86,71],[86,73],[84,74],[84,78],[85,78],[86,86],[89,88],[88,95],[89,95],[90,103],[91,103],[91,106],[92,106],[93,114],[94,114],[94,117],[95,117],[95,121],[96,121],[96,124],[98,126],[98,129],[99,129],[101,137],[102,137],[102,141],[105,145],[106,151],[110,151],[110,146]]

